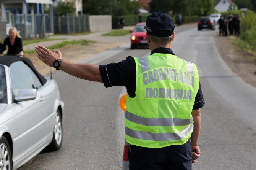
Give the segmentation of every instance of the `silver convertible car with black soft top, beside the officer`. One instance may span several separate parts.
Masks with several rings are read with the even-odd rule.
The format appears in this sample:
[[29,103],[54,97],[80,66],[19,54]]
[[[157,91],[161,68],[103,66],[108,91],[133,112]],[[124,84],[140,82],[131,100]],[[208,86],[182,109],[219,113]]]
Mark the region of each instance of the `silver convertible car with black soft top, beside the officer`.
[[56,81],[29,59],[0,56],[0,170],[19,168],[45,147],[60,149],[63,108]]

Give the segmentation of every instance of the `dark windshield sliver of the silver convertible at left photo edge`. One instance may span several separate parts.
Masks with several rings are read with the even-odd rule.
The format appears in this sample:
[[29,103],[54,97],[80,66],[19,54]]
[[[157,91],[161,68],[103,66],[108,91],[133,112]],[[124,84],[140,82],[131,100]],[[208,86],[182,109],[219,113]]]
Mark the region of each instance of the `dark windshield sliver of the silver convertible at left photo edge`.
[[0,103],[7,103],[5,68],[0,65]]

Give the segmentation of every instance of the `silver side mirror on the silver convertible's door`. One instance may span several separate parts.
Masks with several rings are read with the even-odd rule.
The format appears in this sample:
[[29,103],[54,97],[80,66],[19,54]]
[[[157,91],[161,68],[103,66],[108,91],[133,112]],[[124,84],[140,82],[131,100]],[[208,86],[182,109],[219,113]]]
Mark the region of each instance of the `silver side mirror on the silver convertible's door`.
[[21,89],[18,96],[14,98],[17,102],[36,99],[36,89]]

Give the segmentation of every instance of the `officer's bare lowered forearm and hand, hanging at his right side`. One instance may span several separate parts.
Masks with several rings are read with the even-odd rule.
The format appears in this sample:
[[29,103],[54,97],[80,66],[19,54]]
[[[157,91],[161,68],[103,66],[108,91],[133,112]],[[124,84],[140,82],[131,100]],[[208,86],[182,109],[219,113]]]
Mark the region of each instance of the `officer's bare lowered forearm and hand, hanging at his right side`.
[[194,131],[191,135],[192,163],[194,164],[196,159],[200,157],[199,135],[201,130],[201,109],[192,110],[191,114],[194,120]]

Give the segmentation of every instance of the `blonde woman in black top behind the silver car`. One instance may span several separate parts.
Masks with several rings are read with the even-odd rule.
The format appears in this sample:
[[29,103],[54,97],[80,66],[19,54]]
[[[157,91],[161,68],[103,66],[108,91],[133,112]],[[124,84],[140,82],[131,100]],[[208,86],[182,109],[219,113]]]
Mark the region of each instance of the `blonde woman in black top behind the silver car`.
[[23,57],[23,48],[22,48],[22,40],[19,32],[15,27],[9,30],[9,37],[5,38],[1,48],[0,55],[3,55],[3,51],[6,50],[6,45],[8,46],[7,55],[8,56],[19,56]]

